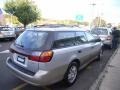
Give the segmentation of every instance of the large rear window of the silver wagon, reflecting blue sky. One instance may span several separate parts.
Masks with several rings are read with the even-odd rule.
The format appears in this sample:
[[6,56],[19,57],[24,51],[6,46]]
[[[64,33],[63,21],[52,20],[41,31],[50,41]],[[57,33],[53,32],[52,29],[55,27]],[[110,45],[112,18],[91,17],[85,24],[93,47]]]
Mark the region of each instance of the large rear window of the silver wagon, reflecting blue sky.
[[24,31],[15,41],[15,44],[29,50],[40,50],[45,44],[47,32]]

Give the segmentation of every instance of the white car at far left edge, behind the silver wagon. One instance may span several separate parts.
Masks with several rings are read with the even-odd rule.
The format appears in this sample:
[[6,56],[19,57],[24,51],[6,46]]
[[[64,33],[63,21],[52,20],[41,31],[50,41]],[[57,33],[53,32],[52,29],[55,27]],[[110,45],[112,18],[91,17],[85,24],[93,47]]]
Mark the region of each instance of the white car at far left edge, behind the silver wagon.
[[0,39],[15,39],[16,34],[14,28],[0,27]]

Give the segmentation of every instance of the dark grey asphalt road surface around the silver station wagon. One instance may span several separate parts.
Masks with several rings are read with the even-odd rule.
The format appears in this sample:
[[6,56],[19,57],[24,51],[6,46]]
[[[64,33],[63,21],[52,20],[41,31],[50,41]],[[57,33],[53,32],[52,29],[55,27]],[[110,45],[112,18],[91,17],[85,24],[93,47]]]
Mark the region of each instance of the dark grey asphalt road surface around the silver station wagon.
[[[0,41],[0,52],[8,50],[11,43],[12,41]],[[103,59],[94,61],[81,70],[76,83],[69,88],[63,87],[61,83],[46,87],[35,87],[21,81],[6,67],[5,61],[10,53],[0,53],[0,90],[88,90],[104,69],[113,52],[113,50],[106,49],[103,53]]]

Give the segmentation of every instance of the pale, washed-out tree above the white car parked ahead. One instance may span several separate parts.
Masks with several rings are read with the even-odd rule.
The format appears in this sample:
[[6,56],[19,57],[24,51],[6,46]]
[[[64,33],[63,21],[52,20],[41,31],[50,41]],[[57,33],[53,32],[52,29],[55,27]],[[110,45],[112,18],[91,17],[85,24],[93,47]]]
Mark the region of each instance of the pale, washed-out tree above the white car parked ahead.
[[96,17],[92,24],[95,26],[95,27],[105,27],[106,26],[106,21],[103,20],[101,17]]

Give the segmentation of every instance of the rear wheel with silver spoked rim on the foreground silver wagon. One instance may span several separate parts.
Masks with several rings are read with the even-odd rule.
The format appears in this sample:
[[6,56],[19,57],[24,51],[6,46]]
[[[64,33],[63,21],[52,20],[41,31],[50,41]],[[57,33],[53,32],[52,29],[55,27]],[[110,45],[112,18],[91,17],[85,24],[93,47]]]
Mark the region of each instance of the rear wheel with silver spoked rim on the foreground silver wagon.
[[78,64],[76,62],[72,62],[64,76],[63,83],[65,86],[69,87],[73,85],[78,76]]

